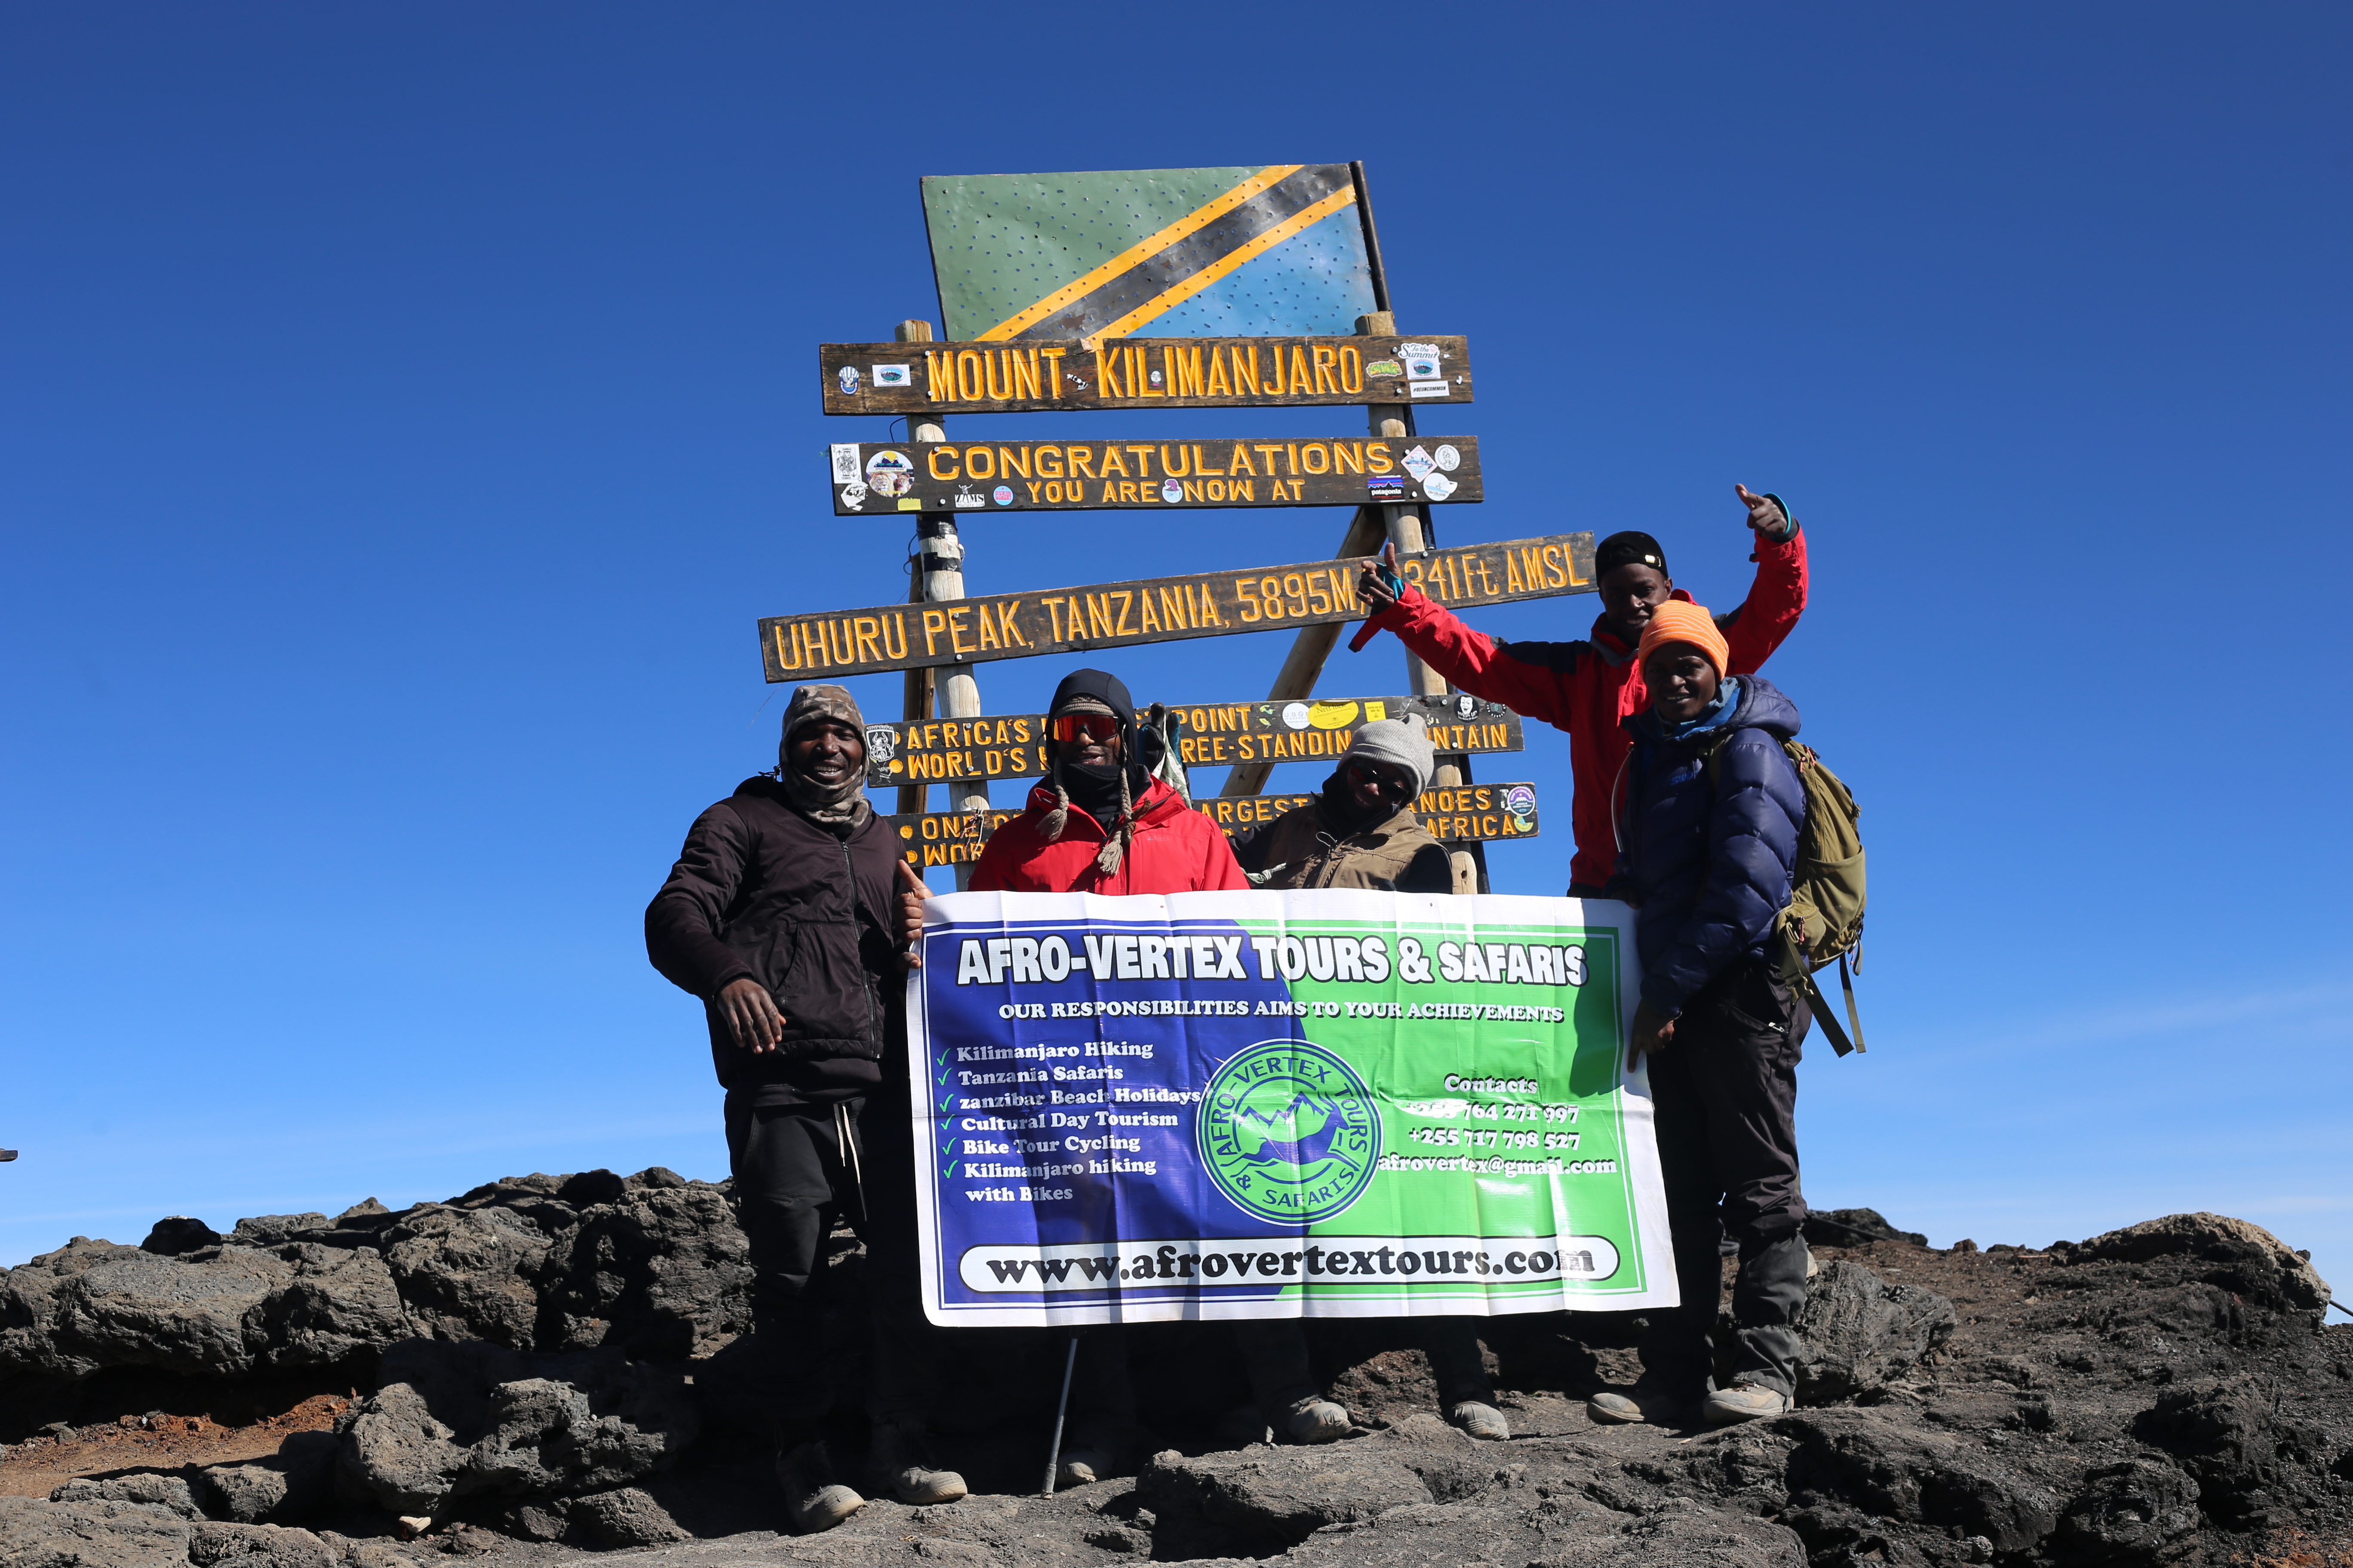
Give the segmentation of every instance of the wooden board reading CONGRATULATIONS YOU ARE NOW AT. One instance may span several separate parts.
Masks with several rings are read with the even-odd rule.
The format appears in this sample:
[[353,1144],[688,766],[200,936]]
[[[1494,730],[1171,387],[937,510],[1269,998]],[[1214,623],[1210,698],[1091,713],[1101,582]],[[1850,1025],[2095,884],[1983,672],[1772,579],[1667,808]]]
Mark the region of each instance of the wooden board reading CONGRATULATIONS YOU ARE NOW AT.
[[1471,435],[835,442],[833,515],[1485,501]]

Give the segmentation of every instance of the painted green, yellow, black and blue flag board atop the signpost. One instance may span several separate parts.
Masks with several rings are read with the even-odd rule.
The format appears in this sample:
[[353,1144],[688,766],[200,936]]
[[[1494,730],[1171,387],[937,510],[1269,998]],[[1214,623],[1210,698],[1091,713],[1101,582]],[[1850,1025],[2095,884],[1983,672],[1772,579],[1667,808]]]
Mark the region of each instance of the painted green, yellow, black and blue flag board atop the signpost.
[[934,174],[922,223],[948,339],[1332,336],[1377,308],[1344,162]]

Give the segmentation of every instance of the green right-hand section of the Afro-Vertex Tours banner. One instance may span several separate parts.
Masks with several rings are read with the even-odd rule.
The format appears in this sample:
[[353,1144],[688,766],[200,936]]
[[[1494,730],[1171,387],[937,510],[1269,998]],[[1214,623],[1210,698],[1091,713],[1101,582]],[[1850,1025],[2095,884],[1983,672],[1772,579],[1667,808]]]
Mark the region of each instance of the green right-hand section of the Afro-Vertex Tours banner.
[[[1301,943],[1304,973],[1287,973],[1294,1004],[1308,1009],[1301,1032],[1344,1063],[1346,1081],[1369,1091],[1374,1114],[1353,1119],[1334,1093],[1339,1084],[1318,1084],[1313,1065],[1264,1072],[1242,1095],[1212,1086],[1202,1103],[1202,1159],[1231,1199],[1261,1218],[1282,1213],[1280,1199],[1252,1204],[1235,1185],[1273,1185],[1259,1175],[1261,1128],[1275,1124],[1289,1091],[1308,1117],[1292,1112],[1292,1124],[1275,1124],[1273,1135],[1287,1131],[1301,1154],[1325,1159],[1282,1175],[1306,1178],[1292,1185],[1339,1208],[1329,1220],[1301,1213],[1308,1237],[1598,1237],[1617,1248],[1619,1267],[1572,1288],[1588,1295],[1649,1288],[1617,1093],[1624,997],[1614,929],[1482,924],[1475,943],[1461,926],[1294,919],[1254,931]],[[1315,938],[1372,933],[1386,936],[1395,952],[1384,983],[1320,980],[1306,971]],[[1407,943],[1421,945],[1428,978],[1409,978],[1417,954]],[[1233,1063],[1221,1077],[1231,1070]],[[1377,1124],[1377,1150],[1348,1197],[1355,1173],[1332,1150],[1346,1150],[1348,1133],[1365,1124]],[[1209,1128],[1231,1131],[1219,1143]],[[1257,1150],[1245,1147],[1252,1138]],[[1252,1152],[1261,1159],[1245,1164]],[[1400,1288],[1414,1300],[1558,1298],[1562,1281],[1499,1279],[1475,1267],[1433,1274],[1424,1265],[1407,1276],[1384,1272],[1365,1284],[1313,1286],[1315,1295],[1374,1298]]]

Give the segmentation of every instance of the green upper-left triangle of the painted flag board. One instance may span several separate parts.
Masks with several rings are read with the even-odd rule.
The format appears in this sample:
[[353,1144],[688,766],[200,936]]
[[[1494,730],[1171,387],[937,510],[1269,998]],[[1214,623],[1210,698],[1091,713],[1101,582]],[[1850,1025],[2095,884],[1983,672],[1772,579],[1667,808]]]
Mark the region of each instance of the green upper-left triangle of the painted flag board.
[[927,174],[922,216],[946,336],[979,339],[1261,167]]

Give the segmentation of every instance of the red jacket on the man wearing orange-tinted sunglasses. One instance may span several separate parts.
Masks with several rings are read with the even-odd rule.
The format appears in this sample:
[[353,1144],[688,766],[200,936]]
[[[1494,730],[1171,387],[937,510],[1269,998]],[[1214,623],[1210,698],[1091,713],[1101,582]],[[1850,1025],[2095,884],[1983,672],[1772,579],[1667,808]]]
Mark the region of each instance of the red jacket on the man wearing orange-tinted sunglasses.
[[1054,792],[1031,790],[1028,811],[991,835],[972,867],[974,893],[1205,893],[1247,889],[1226,835],[1158,778],[1136,802],[1136,832],[1111,877],[1094,867],[1104,825],[1071,806],[1061,837],[1047,842],[1038,820],[1054,809]]

